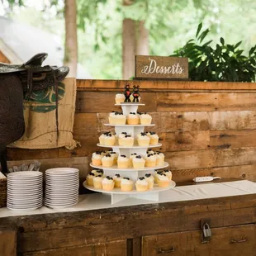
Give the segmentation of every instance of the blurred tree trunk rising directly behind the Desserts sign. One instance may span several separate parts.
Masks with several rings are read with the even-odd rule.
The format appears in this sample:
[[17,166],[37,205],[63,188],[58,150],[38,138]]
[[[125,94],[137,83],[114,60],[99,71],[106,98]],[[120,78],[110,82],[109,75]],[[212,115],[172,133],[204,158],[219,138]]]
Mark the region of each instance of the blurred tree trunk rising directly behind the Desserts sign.
[[136,55],[149,55],[149,31],[145,21],[137,22]]

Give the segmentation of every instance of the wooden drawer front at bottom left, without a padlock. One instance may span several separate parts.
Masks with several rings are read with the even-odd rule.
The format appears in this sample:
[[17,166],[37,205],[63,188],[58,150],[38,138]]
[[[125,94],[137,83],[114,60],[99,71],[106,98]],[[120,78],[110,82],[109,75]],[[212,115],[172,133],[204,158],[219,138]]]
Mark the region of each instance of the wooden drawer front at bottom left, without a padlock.
[[24,256],[126,256],[126,240],[116,240],[104,244],[89,244],[61,249],[49,249],[22,254]]

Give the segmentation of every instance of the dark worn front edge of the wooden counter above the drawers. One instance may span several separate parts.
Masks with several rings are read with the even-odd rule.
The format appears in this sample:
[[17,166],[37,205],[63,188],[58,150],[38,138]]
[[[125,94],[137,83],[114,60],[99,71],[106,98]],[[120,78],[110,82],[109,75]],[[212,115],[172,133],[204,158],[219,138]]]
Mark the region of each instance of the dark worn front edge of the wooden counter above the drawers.
[[9,216],[0,218],[0,229],[9,225],[22,226],[24,232],[33,230],[60,229],[63,226],[98,225],[116,223],[127,220],[145,220],[168,216],[197,216],[201,213],[216,211],[239,211],[239,209],[255,208],[255,194],[207,198],[195,201],[174,201],[152,203],[138,206],[121,206],[114,208],[47,213],[31,216]]

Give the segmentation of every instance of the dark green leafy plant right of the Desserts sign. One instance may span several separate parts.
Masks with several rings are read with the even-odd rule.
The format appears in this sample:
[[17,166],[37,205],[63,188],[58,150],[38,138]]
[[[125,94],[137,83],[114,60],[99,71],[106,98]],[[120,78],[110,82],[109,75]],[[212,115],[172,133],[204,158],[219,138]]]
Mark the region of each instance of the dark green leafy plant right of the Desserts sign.
[[225,44],[220,37],[220,44],[211,47],[211,41],[203,40],[209,29],[201,32],[202,24],[197,27],[196,39],[188,40],[173,56],[189,58],[189,76],[194,81],[255,82],[256,45],[243,55],[239,50],[242,41],[235,45]]

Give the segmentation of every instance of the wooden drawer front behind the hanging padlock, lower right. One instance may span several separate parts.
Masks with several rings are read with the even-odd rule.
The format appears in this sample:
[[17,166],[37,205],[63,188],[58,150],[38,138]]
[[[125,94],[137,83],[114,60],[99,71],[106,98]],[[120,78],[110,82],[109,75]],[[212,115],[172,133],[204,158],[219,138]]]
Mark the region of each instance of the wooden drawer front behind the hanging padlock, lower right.
[[211,241],[201,244],[201,230],[149,235],[142,238],[142,255],[255,256],[255,225],[211,229]]

